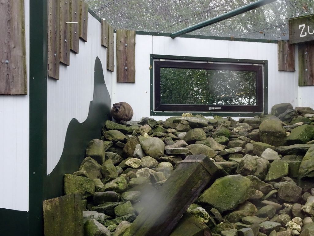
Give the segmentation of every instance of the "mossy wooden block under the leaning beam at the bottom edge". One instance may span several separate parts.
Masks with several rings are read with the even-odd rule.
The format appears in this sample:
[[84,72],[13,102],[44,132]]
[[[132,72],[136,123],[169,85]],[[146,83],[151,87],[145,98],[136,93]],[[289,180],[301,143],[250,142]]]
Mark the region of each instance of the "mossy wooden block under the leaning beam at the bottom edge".
[[176,228],[170,236],[211,236],[206,224],[201,224],[199,220],[189,213],[184,213]]

